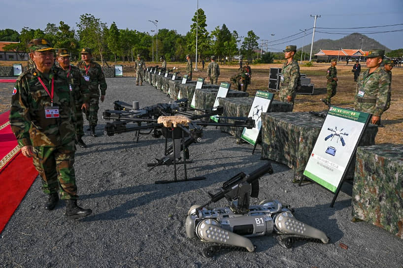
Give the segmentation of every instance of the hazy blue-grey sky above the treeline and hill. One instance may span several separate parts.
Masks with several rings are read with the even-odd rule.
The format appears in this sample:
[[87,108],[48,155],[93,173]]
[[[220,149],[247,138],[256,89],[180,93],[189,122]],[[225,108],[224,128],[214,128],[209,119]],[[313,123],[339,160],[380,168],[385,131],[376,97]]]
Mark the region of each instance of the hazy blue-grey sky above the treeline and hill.
[[[151,33],[156,28],[148,20],[158,20],[158,29],[186,34],[197,4],[197,0],[0,0],[0,29],[44,30],[47,23],[59,26],[60,21],[77,29],[80,15],[89,13],[108,28],[114,21],[119,29]],[[301,47],[310,43],[314,23],[310,15],[321,15],[316,23],[315,41],[336,40],[358,32],[392,50],[403,48],[403,0],[199,0],[199,8],[205,12],[209,32],[223,24],[239,36],[253,30],[261,39],[269,40],[268,49],[271,47],[272,51],[282,51],[287,44]],[[396,26],[375,27],[386,25]],[[300,30],[304,29],[310,30],[302,37]],[[297,35],[285,38],[294,34]],[[361,43],[356,48],[360,46]]]

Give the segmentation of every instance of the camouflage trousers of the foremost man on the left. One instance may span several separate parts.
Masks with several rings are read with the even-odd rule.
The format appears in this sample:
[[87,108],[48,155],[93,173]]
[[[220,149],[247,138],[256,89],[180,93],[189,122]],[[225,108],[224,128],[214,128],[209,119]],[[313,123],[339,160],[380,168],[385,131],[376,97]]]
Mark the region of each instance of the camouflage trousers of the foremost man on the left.
[[74,141],[67,145],[33,147],[33,163],[42,178],[45,194],[59,191],[63,200],[78,199],[74,172]]

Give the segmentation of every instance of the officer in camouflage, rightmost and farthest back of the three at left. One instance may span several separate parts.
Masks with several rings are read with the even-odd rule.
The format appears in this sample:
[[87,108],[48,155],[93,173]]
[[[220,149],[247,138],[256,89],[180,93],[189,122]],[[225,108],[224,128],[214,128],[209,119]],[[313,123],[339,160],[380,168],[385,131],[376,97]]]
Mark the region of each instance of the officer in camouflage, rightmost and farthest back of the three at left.
[[[96,137],[95,127],[98,124],[98,110],[100,109],[100,99],[103,102],[106,92],[105,76],[102,72],[102,67],[93,61],[91,48],[85,47],[81,50],[81,62],[77,67],[85,82],[87,83],[88,90],[90,91],[90,107],[85,110],[85,117],[90,124],[90,131],[93,137]],[[100,98],[101,90],[101,98]]]

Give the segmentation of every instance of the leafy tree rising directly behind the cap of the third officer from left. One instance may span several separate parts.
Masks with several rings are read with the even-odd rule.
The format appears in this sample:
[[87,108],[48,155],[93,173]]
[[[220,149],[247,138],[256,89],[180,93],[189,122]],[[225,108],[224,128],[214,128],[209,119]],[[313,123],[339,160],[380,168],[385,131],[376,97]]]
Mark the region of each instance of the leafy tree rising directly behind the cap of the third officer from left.
[[101,22],[101,19],[86,13],[80,16],[80,22],[77,23],[77,27],[81,46],[91,48],[95,56],[99,55],[101,57],[101,63],[103,64],[103,52],[106,48],[105,35],[108,33],[106,24]]

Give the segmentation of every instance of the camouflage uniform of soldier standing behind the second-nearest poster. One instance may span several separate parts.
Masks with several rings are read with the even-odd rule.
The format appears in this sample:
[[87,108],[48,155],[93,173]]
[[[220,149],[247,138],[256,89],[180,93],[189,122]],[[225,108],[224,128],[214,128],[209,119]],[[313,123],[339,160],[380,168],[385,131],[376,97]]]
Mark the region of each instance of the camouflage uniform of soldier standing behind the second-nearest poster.
[[294,99],[297,95],[296,88],[300,79],[300,66],[298,62],[293,60],[290,64],[287,64],[287,62],[284,63],[281,75],[283,79],[280,82],[278,97],[281,101],[287,101],[287,96],[291,96],[291,102],[294,105]]

